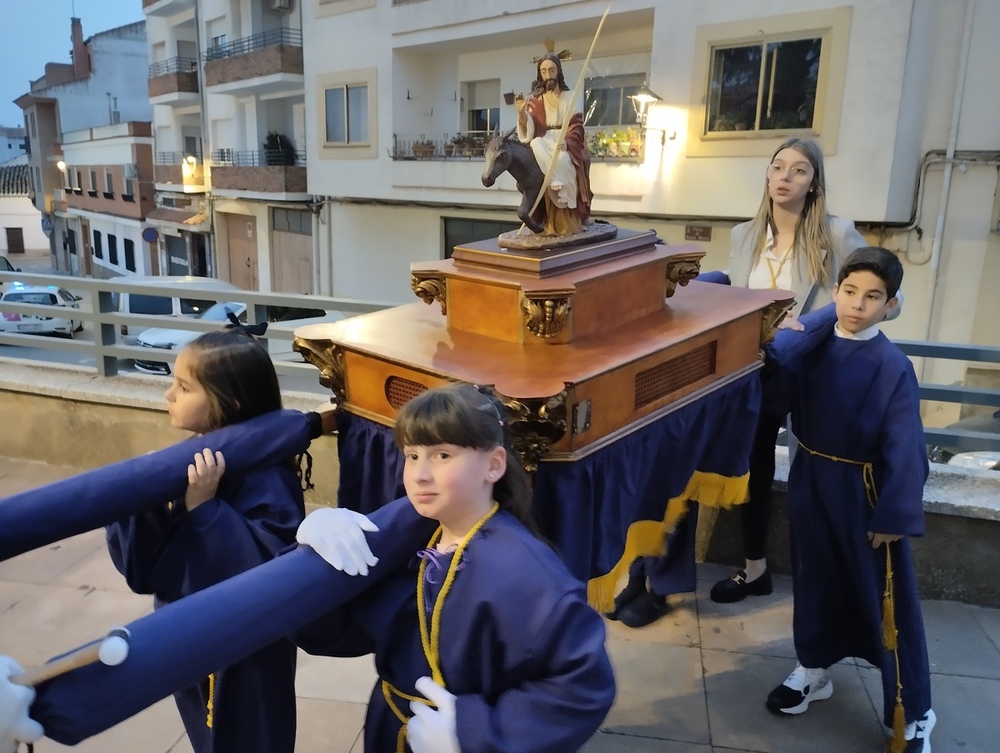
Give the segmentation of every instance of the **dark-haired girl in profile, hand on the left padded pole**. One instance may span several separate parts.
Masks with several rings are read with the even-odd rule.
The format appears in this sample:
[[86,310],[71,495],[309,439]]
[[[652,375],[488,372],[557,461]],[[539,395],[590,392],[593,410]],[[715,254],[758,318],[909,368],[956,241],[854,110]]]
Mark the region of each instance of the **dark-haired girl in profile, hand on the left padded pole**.
[[[170,423],[204,434],[281,408],[267,351],[244,328],[201,335],[177,356],[165,393]],[[305,515],[288,462],[226,475],[221,452],[188,466],[182,499],[107,527],[115,567],[154,607],[274,557]],[[292,753],[295,645],[283,639],[174,694],[195,753]]]

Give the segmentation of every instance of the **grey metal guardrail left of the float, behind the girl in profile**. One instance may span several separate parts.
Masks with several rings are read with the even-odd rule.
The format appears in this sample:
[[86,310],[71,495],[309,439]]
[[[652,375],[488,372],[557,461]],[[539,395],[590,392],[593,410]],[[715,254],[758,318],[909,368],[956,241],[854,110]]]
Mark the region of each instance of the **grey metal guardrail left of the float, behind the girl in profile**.
[[[0,282],[19,281],[27,285],[57,285],[67,288],[82,296],[81,309],[72,309],[72,318],[91,322],[93,324],[94,341],[62,339],[45,335],[18,334],[0,331],[0,345],[22,345],[33,348],[44,348],[52,351],[77,353],[82,356],[94,356],[97,374],[102,377],[114,376],[118,373],[119,359],[150,359],[149,348],[129,345],[121,334],[122,326],[127,327],[160,327],[170,329],[185,329],[195,332],[211,332],[219,328],[219,322],[203,322],[189,317],[165,317],[141,314],[121,313],[115,308],[115,295],[120,293],[141,294],[173,298],[178,295],[177,287],[163,287],[148,284],[129,283],[127,277],[116,277],[111,280],[98,280],[90,277],[67,277],[63,275],[28,274],[24,272],[0,272]],[[318,295],[290,295],[282,293],[258,293],[244,290],[207,290],[185,287],[182,291],[185,298],[206,298],[212,300],[239,301],[247,304],[247,318],[250,323],[266,321],[265,308],[268,306],[286,306],[294,308],[323,309],[327,312],[342,312],[344,314],[363,314],[379,311],[395,306],[395,303],[377,301],[362,301],[355,298],[330,298]],[[88,310],[89,308],[89,310]],[[36,316],[53,316],[69,318],[68,311],[61,306],[41,306],[23,303],[0,302],[0,315],[3,312],[34,314]],[[294,339],[294,334],[272,325],[267,335],[260,338],[265,344],[267,340]],[[0,350],[0,355],[3,351]],[[173,362],[177,353],[170,350],[155,350],[157,361]],[[296,357],[298,357],[296,355]],[[279,374],[314,375],[315,367],[302,361],[286,361],[274,359],[275,370]]]

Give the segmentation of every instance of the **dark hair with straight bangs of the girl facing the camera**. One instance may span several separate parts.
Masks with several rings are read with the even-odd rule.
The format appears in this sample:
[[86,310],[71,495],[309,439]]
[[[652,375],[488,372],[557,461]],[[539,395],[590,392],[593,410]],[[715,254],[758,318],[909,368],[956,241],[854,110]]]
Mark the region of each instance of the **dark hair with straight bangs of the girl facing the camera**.
[[511,447],[503,403],[488,388],[456,383],[417,395],[396,416],[396,445],[453,444],[473,450],[507,450],[507,470],[493,486],[493,498],[533,534],[531,483]]

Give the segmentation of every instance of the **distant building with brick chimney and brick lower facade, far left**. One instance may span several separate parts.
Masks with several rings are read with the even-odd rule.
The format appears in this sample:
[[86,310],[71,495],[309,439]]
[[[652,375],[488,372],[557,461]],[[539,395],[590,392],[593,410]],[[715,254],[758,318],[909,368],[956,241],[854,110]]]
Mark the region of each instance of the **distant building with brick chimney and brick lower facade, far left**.
[[[99,277],[148,272],[155,249],[141,237],[142,210],[152,207],[145,24],[85,39],[81,20],[73,18],[70,39],[72,62],[46,64],[45,75],[16,100],[24,111],[33,200],[50,231],[54,264]],[[103,251],[108,236],[113,257]]]

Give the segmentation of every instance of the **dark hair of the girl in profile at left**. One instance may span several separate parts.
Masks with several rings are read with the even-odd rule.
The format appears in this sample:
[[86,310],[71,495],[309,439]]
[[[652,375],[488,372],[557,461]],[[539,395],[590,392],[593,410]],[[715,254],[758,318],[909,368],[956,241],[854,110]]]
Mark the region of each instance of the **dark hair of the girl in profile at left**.
[[208,393],[210,429],[281,408],[278,375],[267,350],[241,328],[206,332],[187,346],[192,372]]

